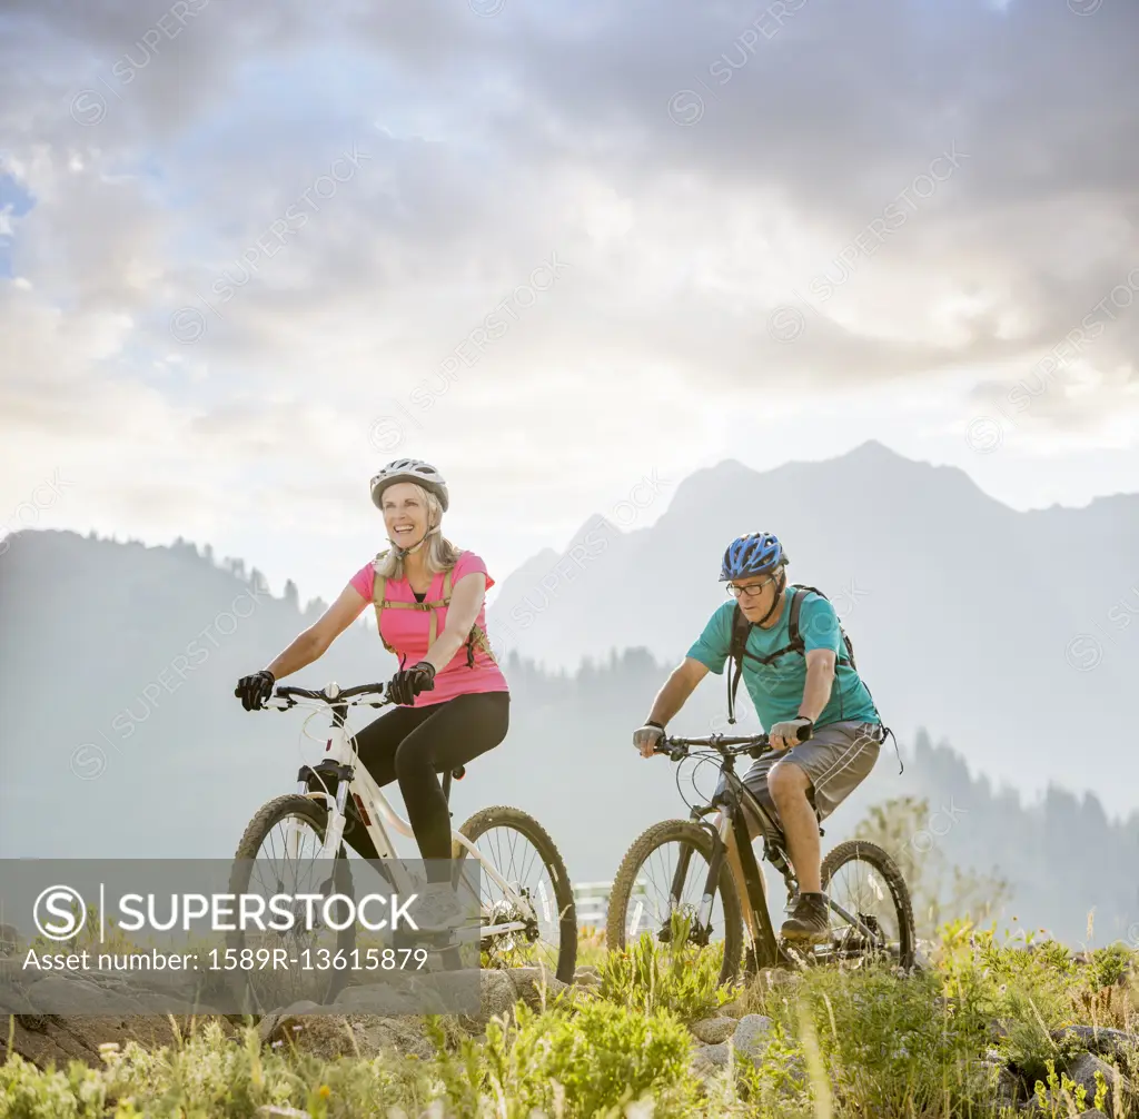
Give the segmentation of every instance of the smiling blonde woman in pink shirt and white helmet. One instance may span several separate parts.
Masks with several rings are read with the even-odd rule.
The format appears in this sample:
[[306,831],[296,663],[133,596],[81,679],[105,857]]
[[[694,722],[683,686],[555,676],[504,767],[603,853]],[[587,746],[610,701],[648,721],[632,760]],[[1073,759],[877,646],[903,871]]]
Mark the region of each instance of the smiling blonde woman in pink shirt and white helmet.
[[[436,884],[424,905],[445,915],[454,912],[448,890],[451,816],[436,775],[492,750],[510,721],[510,693],[485,634],[484,599],[494,580],[477,555],[441,534],[450,495],[431,464],[388,463],[371,480],[371,499],[392,547],[361,567],[269,668],[243,677],[235,695],[247,711],[260,709],[278,679],[321,656],[375,601],[380,639],[400,659],[387,686],[387,699],[399,706],[360,730],[357,749],[378,785],[399,781],[419,852],[429,860],[428,880]],[[363,858],[376,858],[350,811],[345,839]]]

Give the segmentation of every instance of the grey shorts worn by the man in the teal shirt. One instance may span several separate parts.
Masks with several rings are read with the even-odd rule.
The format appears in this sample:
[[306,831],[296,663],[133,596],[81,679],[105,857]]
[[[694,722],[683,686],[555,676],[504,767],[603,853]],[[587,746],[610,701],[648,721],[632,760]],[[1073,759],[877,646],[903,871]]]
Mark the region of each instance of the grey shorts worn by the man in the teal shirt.
[[[768,774],[776,765],[798,766],[811,782],[808,799],[823,820],[869,776],[878,760],[883,734],[879,722],[851,720],[819,727],[806,742],[760,758],[744,774],[744,785],[778,819],[768,791]],[[754,812],[748,815],[754,818]]]

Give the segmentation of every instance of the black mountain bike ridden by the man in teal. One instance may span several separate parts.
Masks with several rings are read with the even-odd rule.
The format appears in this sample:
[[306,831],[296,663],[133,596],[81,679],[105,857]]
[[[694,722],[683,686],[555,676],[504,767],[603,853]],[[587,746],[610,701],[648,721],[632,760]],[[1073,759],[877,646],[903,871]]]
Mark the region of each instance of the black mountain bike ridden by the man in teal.
[[[808,946],[776,936],[768,914],[763,874],[748,838],[745,808],[761,824],[763,857],[786,883],[788,910],[798,885],[778,819],[736,774],[738,757],[760,758],[770,752],[765,734],[665,737],[656,752],[667,754],[673,761],[693,755],[719,758],[720,781],[711,802],[695,806],[689,819],[654,824],[629,848],[609,896],[606,940],[611,950],[636,944],[645,932],[655,933],[666,942],[678,928],[673,918],[679,916],[687,922],[690,944],[705,947],[722,937],[720,982],[735,979],[745,928],[724,846],[730,828],[744,871],[745,900],[759,928],[748,954],[748,971],[827,963],[865,966],[871,961],[903,969],[913,965],[913,912],[906,880],[880,847],[865,840],[839,843],[822,861],[822,890],[830,916],[827,940]],[[710,822],[710,816],[714,820]]]

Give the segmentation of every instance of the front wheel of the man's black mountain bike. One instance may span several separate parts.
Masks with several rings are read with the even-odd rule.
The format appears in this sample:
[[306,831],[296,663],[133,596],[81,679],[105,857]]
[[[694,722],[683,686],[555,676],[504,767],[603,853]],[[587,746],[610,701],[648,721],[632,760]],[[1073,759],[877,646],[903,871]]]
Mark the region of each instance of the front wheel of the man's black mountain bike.
[[675,915],[688,922],[689,944],[723,951],[720,983],[735,979],[744,950],[739,895],[724,858],[712,908],[702,920],[711,866],[712,836],[690,820],[663,820],[641,834],[622,859],[609,895],[605,922],[609,951],[636,944],[646,932],[666,942]]

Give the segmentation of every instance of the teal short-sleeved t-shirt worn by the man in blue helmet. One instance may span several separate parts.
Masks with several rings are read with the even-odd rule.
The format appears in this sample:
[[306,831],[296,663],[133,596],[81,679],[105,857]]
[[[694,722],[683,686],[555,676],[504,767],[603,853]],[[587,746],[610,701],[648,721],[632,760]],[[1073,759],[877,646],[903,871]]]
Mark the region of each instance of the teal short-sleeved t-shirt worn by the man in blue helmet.
[[[788,642],[790,621],[792,588],[784,590],[784,607],[779,622],[771,629],[753,626],[747,636],[747,648],[757,656],[768,656]],[[718,676],[723,672],[731,644],[731,615],[735,602],[726,602],[708,619],[704,632],[688,651],[693,660],[699,661]],[[835,607],[819,595],[809,594],[800,608],[798,631],[805,652],[812,648],[834,650],[836,655],[846,655],[838,615]],[[731,668],[735,671],[735,667]],[[798,653],[785,653],[772,664],[760,664],[749,656],[744,657],[743,683],[755,705],[760,724],[770,730],[777,722],[798,716],[798,706],[806,686],[806,657]],[[835,664],[835,683],[830,699],[822,709],[816,726],[857,719],[860,722],[880,722],[874,700],[858,671],[850,664]]]

